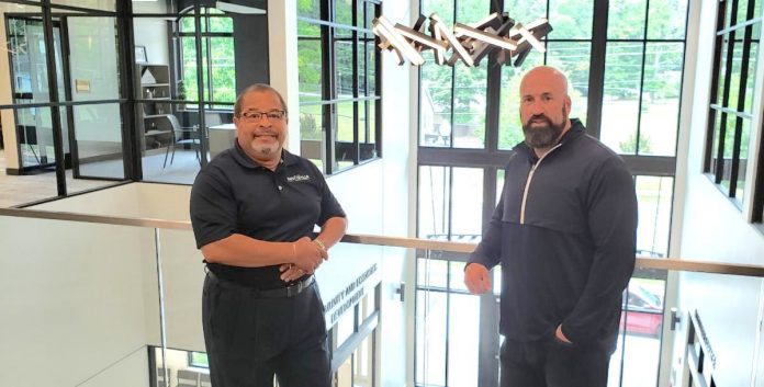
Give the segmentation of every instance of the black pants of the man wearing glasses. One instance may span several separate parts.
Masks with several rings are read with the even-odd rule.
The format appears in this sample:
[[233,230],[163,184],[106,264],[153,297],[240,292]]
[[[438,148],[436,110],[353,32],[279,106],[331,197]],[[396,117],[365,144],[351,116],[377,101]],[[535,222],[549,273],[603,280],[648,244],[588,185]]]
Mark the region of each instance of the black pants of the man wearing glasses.
[[324,305],[315,283],[292,297],[261,298],[206,276],[204,342],[214,387],[329,387]]

